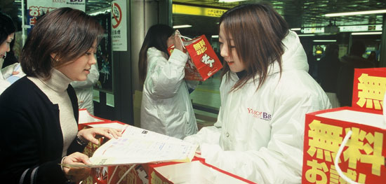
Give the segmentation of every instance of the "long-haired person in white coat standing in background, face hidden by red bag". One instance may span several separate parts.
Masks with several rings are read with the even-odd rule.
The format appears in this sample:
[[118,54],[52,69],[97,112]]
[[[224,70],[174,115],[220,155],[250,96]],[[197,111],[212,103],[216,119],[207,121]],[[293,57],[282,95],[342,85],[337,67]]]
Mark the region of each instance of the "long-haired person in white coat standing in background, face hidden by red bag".
[[[141,128],[178,139],[197,133],[192,101],[184,80],[188,55],[182,52],[179,32],[164,24],[149,28],[138,62],[143,84]],[[175,45],[171,55],[168,47]],[[194,86],[195,87],[195,86]]]

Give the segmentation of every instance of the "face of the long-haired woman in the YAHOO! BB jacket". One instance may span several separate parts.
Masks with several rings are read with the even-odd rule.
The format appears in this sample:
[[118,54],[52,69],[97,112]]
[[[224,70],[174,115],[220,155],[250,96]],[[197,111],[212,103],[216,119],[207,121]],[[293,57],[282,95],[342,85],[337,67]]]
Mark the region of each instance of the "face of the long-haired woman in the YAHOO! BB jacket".
[[220,33],[218,34],[218,41],[220,42],[220,55],[224,57],[224,60],[227,62],[230,71],[244,71],[244,64],[237,56],[237,50],[234,47],[234,41],[232,38],[230,38],[231,43],[229,44],[230,47],[228,47],[228,36],[229,35],[225,35],[223,24],[220,24]]

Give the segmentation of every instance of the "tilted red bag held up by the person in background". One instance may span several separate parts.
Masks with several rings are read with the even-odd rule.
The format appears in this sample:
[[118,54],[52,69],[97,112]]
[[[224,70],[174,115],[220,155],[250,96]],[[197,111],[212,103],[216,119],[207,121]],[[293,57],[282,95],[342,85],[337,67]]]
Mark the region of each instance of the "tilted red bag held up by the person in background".
[[[222,69],[222,64],[205,35],[190,41],[183,40],[189,58],[185,65],[186,80],[206,80]],[[168,48],[171,54],[174,45]]]

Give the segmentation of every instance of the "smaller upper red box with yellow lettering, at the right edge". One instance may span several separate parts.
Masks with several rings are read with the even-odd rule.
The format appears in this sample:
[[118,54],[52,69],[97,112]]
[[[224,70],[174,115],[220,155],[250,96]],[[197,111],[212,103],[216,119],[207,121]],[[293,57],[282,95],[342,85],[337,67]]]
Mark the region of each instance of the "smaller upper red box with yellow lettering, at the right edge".
[[352,106],[382,111],[386,68],[355,69]]

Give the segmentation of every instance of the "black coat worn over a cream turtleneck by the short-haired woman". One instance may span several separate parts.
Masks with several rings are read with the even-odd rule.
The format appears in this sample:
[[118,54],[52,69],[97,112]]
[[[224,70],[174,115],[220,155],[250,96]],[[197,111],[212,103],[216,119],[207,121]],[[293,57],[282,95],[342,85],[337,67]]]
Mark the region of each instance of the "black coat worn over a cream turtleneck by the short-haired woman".
[[[78,104],[71,85],[67,93],[78,122]],[[0,95],[0,125],[1,183],[20,183],[20,178],[22,183],[67,181],[59,165],[63,136],[58,104],[53,104],[27,77]],[[74,140],[67,154],[82,150]]]

